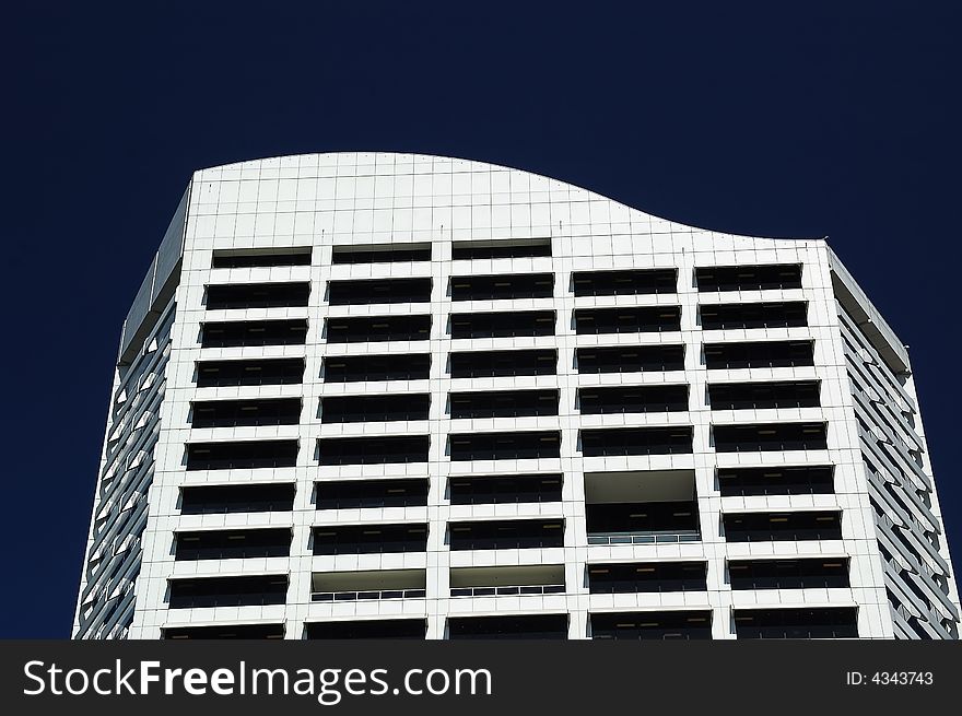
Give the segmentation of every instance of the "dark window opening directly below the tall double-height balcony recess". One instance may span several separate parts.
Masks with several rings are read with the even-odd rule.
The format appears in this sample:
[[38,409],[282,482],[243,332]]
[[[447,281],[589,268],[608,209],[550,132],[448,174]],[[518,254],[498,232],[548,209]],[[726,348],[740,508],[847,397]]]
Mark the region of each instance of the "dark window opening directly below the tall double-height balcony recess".
[[705,591],[705,562],[627,562],[589,564],[588,590],[593,594],[646,591]]

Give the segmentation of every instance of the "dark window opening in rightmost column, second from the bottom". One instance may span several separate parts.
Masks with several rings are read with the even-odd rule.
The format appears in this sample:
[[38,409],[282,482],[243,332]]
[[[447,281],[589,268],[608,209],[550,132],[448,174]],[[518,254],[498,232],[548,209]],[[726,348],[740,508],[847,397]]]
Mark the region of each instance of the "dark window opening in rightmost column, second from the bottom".
[[732,589],[811,589],[848,586],[848,557],[731,560]]

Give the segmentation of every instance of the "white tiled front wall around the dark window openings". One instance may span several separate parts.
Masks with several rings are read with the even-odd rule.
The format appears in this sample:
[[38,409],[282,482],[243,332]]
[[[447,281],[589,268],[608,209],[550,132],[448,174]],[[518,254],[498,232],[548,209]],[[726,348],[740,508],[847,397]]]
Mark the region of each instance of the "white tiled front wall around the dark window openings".
[[[451,242],[465,239],[551,237],[551,258],[451,260]],[[430,242],[430,262],[331,266],[331,247],[345,244]],[[312,266],[253,269],[211,269],[214,249],[312,246]],[[732,293],[702,293],[694,287],[695,267],[758,263],[802,263],[803,287]],[[575,297],[573,271],[677,268],[678,293],[638,296]],[[552,272],[553,298],[453,303],[447,295],[453,275]],[[332,279],[431,277],[430,304],[328,306],[326,282]],[[207,312],[206,284],[309,280],[306,308],[267,308]],[[808,327],[704,331],[697,321],[700,303],[808,302]],[[167,367],[166,398],[157,471],[151,492],[151,514],[144,536],[143,571],[138,585],[133,637],[153,638],[163,626],[220,622],[283,621],[288,638],[301,638],[305,621],[380,618],[397,614],[423,617],[429,638],[441,638],[448,614],[567,612],[570,636],[585,638],[588,614],[622,609],[713,610],[715,638],[734,638],[732,607],[857,606],[863,637],[891,637],[892,620],[882,587],[882,573],[859,443],[848,391],[845,359],[835,315],[828,249],[822,239],[767,239],[707,232],[668,222],[630,209],[585,189],[559,180],[469,161],[402,154],[321,154],[290,156],[214,167],[198,172],[188,212],[181,282],[177,290],[177,319]],[[576,336],[573,310],[595,306],[681,306],[681,330],[667,333]],[[555,336],[450,340],[451,313],[552,308]],[[349,343],[327,345],[321,336],[328,316],[426,314],[433,317],[430,341]],[[201,321],[218,319],[307,318],[306,345],[201,349]],[[816,365],[797,368],[713,371],[713,382],[819,378],[821,407],[797,410],[708,410],[702,344],[709,341],[814,339]],[[683,343],[682,372],[578,375],[573,366],[576,347]],[[453,350],[556,348],[558,375],[451,379],[445,373]],[[427,380],[371,384],[328,384],[319,375],[326,352],[331,354],[432,354]],[[247,356],[305,356],[303,385],[202,388],[193,384],[199,360]],[[687,383],[690,410],[582,416],[575,409],[579,386]],[[450,420],[444,412],[453,389],[520,389],[551,387],[560,390],[558,416],[488,420]],[[417,423],[325,424],[317,418],[321,396],[430,391],[430,420]],[[298,425],[192,430],[188,423],[191,400],[301,396]],[[829,447],[820,451],[716,454],[711,445],[712,423],[767,421],[826,421]],[[583,457],[578,430],[591,426],[692,425],[691,455],[638,457]],[[455,432],[559,430],[561,457],[543,460],[451,462],[445,456],[447,435]],[[316,441],[341,435],[429,434],[430,459],[420,465],[319,467]],[[191,471],[184,467],[185,443],[208,439],[291,437],[300,439],[297,466],[278,470]],[[722,498],[715,470],[732,465],[834,465],[835,494]],[[702,540],[687,544],[599,547],[587,543],[584,478],[586,471],[681,468],[694,470]],[[451,506],[444,497],[449,476],[515,472],[562,472],[563,500],[550,504]],[[312,503],[315,481],[361,477],[430,477],[426,507],[317,512]],[[291,513],[180,516],[176,508],[181,485],[291,481],[297,483]],[[725,510],[842,508],[843,539],[813,542],[726,543],[720,535]],[[450,519],[548,516],[565,519],[564,548],[450,552],[444,544]],[[314,556],[308,549],[313,525],[333,521],[429,521],[426,553],[361,556]],[[290,557],[175,563],[172,536],[176,530],[237,526],[290,526]],[[726,557],[793,555],[848,555],[850,588],[732,592],[725,582]],[[692,559],[707,561],[707,591],[641,595],[589,595],[588,562]],[[526,597],[448,596],[450,566],[508,564],[563,564],[566,594]],[[310,601],[313,571],[354,568],[426,568],[426,598],[367,602]],[[167,580],[192,574],[289,573],[285,606],[168,610]]]

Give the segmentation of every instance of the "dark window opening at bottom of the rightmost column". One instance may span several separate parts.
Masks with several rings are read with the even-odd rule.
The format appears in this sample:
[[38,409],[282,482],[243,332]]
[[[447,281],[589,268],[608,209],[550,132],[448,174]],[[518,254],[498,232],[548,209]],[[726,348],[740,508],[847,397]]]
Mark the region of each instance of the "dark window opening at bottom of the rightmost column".
[[738,638],[857,638],[855,607],[737,609]]

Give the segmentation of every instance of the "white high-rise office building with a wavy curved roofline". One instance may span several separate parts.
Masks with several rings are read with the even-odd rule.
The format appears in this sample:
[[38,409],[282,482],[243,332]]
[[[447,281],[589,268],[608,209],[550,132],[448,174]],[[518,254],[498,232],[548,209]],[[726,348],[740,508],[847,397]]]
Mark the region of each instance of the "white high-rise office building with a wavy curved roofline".
[[197,172],[78,638],[955,638],[908,355],[822,238],[479,162]]

